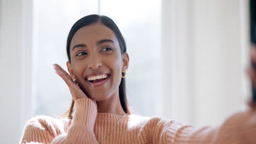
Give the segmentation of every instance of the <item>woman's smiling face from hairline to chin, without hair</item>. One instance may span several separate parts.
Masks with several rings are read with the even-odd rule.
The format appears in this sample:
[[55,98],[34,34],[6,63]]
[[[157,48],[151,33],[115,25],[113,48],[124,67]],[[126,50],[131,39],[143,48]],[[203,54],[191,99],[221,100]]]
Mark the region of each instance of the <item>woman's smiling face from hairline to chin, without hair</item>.
[[[111,29],[99,22],[78,29],[71,41],[70,55],[69,74],[89,98],[101,101],[119,94],[122,70],[128,68],[129,55],[121,55]],[[104,75],[108,76],[105,80],[101,79]],[[101,80],[91,81],[94,76]]]

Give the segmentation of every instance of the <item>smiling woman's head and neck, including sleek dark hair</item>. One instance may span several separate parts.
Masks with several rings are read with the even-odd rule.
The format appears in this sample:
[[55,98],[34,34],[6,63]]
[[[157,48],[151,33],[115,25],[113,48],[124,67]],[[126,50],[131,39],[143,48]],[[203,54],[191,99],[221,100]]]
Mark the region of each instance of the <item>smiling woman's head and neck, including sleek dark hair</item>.
[[[100,101],[103,107],[98,106],[99,112],[130,113],[125,80],[121,80],[129,55],[123,35],[112,20],[90,15],[77,21],[68,34],[67,55],[69,74],[89,98]],[[96,80],[100,76],[106,79]],[[69,117],[71,112],[68,111]]]

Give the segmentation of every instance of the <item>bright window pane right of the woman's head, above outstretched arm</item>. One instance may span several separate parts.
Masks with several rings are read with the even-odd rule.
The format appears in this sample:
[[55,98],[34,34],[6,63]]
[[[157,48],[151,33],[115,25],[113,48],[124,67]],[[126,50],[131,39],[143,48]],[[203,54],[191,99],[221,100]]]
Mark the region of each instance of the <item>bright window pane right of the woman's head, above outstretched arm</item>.
[[145,116],[160,115],[161,1],[108,0],[101,2],[100,11],[114,20],[126,40],[127,95],[132,109]]

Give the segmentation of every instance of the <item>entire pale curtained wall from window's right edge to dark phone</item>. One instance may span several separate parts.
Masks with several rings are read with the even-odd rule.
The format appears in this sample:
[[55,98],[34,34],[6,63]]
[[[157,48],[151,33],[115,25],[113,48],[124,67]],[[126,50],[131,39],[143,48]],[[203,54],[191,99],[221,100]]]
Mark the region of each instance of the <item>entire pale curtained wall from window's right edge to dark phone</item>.
[[216,125],[245,109],[246,10],[238,0],[162,1],[162,75],[172,74],[162,79],[163,117]]

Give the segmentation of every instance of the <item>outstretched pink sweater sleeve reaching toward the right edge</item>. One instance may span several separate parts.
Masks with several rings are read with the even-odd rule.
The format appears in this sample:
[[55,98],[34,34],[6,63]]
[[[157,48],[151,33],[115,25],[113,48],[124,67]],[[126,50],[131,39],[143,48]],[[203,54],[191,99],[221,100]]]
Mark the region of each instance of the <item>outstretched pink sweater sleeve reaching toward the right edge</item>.
[[256,112],[247,110],[237,112],[227,118],[218,127],[196,128],[172,122],[163,134],[162,143],[255,143],[256,141]]

